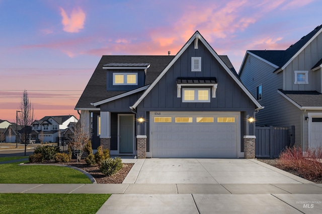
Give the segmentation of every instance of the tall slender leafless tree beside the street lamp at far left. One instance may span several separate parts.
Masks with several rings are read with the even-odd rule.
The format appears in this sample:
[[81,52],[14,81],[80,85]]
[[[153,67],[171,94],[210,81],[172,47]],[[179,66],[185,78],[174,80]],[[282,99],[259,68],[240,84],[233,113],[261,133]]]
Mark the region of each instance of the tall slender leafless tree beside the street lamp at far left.
[[27,145],[29,144],[28,135],[31,132],[31,123],[34,121],[34,108],[31,104],[27,90],[24,91],[21,98],[20,108],[21,113],[19,114],[17,125],[20,124],[22,127],[22,143],[25,144],[25,155],[27,150]]

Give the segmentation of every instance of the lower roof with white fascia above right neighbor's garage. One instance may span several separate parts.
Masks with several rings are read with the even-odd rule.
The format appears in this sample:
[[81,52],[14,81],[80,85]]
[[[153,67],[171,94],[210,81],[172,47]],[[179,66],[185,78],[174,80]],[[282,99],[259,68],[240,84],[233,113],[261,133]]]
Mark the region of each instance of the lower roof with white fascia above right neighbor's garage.
[[278,93],[301,110],[322,110],[322,94],[317,91],[283,91],[278,89]]

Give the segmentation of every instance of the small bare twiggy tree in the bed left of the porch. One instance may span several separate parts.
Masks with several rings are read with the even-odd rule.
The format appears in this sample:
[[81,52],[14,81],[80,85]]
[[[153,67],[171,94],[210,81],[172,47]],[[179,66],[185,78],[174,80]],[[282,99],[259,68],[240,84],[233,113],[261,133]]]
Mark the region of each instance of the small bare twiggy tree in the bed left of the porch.
[[74,154],[77,156],[77,161],[81,160],[84,152],[84,146],[90,140],[90,133],[85,129],[85,120],[81,116],[79,121],[73,127],[73,133],[70,135],[70,146]]

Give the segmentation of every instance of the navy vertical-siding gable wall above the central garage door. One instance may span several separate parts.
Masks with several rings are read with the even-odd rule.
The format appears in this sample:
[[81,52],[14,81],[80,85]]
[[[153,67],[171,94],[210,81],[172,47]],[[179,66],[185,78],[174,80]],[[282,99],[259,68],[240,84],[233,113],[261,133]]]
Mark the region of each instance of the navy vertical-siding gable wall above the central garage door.
[[[191,71],[191,57],[201,57],[201,72]],[[178,77],[216,77],[216,97],[209,103],[182,102],[177,97]],[[211,92],[212,93],[212,92]],[[206,47],[190,45],[138,105],[148,111],[254,111],[255,104],[227,74]]]

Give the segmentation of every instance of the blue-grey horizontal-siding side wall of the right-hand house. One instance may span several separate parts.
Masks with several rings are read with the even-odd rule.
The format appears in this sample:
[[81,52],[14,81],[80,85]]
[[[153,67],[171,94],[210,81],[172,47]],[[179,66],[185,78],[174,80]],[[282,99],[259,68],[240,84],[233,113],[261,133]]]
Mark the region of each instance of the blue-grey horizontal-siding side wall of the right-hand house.
[[[249,59],[250,58],[250,59]],[[262,100],[265,106],[256,114],[256,126],[295,126],[295,144],[301,144],[301,114],[298,109],[277,90],[283,87],[283,73],[273,73],[271,65],[248,55],[240,79],[250,92],[256,97],[256,87],[262,84]],[[294,82],[294,81],[293,81]]]

